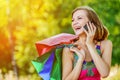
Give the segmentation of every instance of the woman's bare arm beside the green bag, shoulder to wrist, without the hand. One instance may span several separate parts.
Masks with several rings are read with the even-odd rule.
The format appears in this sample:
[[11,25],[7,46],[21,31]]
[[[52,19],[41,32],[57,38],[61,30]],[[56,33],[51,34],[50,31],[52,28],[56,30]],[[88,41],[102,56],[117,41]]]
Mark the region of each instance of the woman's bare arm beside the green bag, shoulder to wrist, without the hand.
[[69,48],[65,47],[62,54],[62,80],[77,80],[82,68],[82,63],[83,59],[79,58],[76,66],[73,68],[73,53],[71,53]]

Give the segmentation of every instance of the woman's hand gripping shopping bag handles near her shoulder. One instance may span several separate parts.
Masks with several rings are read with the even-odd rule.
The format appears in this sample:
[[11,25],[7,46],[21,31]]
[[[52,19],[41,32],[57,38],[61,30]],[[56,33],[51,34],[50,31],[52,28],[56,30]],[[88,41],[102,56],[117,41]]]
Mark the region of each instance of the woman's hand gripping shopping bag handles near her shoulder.
[[85,59],[85,51],[83,49],[79,50],[76,47],[70,47],[70,51],[75,52],[82,61]]

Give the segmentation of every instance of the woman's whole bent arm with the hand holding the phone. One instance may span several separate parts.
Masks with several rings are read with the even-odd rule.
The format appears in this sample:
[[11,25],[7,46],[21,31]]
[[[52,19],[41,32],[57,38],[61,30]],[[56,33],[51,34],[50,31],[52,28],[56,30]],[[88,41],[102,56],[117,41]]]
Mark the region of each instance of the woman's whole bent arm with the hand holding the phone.
[[87,24],[88,31],[85,31],[87,38],[86,38],[86,45],[88,47],[88,50],[90,51],[90,54],[92,56],[92,59],[96,65],[96,68],[98,69],[101,77],[107,77],[110,72],[110,65],[111,65],[111,55],[112,55],[112,42],[110,40],[104,40],[102,41],[102,49],[103,49],[103,55],[102,58],[98,55],[95,44],[93,42],[94,36],[96,33],[96,27],[93,23],[89,22]]

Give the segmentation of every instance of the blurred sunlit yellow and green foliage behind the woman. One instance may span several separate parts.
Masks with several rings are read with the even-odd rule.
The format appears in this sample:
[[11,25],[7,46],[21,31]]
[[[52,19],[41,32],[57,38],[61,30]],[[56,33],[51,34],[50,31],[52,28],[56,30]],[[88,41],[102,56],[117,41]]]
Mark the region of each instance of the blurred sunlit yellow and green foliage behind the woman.
[[120,0],[0,0],[0,80],[41,80],[31,60],[35,42],[62,32],[73,33],[71,12],[92,7],[110,31],[111,73],[120,80]]

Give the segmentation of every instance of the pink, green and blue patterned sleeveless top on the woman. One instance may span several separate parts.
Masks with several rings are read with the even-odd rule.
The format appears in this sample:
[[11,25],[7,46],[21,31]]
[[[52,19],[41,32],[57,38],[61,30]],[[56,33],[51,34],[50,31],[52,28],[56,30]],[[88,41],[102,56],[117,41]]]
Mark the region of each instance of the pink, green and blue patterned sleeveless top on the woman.
[[[102,53],[100,51],[100,45],[96,46],[96,50],[98,54],[102,56]],[[73,64],[74,66],[76,65],[77,60],[78,60],[78,56],[74,54],[74,64]],[[100,80],[100,74],[93,60],[90,62],[86,62],[86,61],[83,62],[78,80]]]

